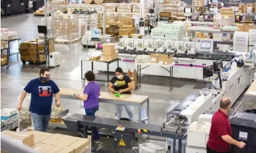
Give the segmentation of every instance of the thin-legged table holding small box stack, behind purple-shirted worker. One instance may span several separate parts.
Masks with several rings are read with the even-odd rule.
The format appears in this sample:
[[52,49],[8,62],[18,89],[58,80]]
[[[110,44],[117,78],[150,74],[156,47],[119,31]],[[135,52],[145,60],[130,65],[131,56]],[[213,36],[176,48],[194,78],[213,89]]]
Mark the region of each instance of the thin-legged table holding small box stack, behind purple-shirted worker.
[[[111,63],[114,63],[114,62],[117,62],[117,68],[119,67],[119,60],[121,59],[114,59],[114,60],[103,60],[103,59],[100,59],[100,60],[89,60],[89,59],[82,59],[81,60],[81,79],[82,80],[85,80],[84,78],[84,74],[82,72],[82,62],[83,61],[87,61],[87,62],[92,62],[92,71],[93,71],[93,62],[103,62],[103,63],[107,63],[108,67],[107,67],[107,73],[108,73],[108,79],[107,79],[107,82],[106,82],[106,86],[108,86],[108,83],[109,83],[109,64]],[[96,81],[103,81],[105,82],[106,80],[96,80]]]

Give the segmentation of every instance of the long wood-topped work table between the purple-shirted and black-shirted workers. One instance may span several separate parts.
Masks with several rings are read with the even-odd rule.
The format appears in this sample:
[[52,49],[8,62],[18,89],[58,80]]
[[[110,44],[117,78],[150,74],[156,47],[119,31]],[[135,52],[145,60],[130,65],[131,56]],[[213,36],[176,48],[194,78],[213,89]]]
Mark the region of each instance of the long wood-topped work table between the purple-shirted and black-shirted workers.
[[[75,99],[74,94],[83,95],[82,90],[76,90],[71,88],[59,88],[60,89],[60,98],[64,99]],[[149,98],[148,96],[140,96],[134,94],[125,94],[122,98],[116,97],[113,93],[102,92],[99,97],[99,102],[105,102],[109,104],[122,104],[122,105],[133,105],[139,107],[139,123],[141,123],[141,107],[145,102],[147,102],[147,117],[149,123]]]

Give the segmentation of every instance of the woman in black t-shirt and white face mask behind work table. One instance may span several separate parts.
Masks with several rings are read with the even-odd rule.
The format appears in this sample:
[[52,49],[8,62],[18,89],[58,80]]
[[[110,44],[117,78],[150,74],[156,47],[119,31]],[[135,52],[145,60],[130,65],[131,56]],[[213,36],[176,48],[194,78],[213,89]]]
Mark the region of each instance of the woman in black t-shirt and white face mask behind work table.
[[[115,76],[111,79],[109,83],[109,90],[112,93],[118,91],[122,94],[131,94],[132,89],[131,79],[123,73],[122,68],[115,69]],[[115,110],[117,111],[117,118],[122,118],[122,109],[125,107],[126,112],[128,113],[129,119],[133,121],[133,106],[131,105],[119,105],[115,104]]]

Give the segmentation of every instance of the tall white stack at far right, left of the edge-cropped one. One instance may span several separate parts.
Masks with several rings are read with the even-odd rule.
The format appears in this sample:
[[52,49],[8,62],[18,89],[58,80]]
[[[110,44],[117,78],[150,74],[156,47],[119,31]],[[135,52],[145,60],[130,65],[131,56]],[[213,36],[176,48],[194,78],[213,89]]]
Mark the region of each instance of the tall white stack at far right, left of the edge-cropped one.
[[233,38],[233,51],[248,52],[249,32],[236,31]]

